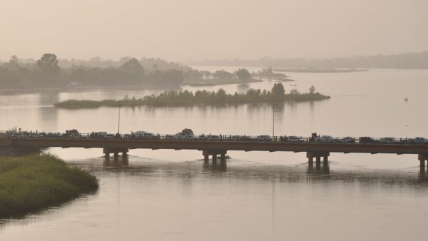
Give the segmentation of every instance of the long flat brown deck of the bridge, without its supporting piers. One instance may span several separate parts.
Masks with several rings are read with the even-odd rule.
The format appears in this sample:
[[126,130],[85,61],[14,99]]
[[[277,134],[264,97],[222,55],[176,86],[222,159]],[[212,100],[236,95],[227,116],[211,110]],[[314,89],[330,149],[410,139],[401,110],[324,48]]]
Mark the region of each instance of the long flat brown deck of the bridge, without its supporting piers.
[[14,147],[61,148],[146,148],[173,150],[264,150],[331,153],[396,153],[428,154],[428,145],[415,144],[361,144],[361,143],[289,143],[230,140],[123,140],[72,138],[10,138]]

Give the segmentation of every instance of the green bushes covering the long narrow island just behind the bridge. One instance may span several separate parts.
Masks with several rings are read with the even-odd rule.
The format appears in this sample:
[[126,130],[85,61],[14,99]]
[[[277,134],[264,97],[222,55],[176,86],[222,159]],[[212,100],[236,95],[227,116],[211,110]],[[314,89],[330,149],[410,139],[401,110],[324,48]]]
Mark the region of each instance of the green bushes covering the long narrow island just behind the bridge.
[[275,83],[271,91],[250,89],[247,93],[228,94],[223,89],[214,91],[165,91],[158,96],[144,96],[143,98],[129,98],[126,96],[121,100],[68,100],[55,103],[57,108],[80,109],[118,106],[193,106],[193,105],[226,105],[243,103],[281,103],[285,101],[320,101],[330,96],[315,92],[311,86],[309,93],[299,93],[292,90],[285,93],[282,83]]

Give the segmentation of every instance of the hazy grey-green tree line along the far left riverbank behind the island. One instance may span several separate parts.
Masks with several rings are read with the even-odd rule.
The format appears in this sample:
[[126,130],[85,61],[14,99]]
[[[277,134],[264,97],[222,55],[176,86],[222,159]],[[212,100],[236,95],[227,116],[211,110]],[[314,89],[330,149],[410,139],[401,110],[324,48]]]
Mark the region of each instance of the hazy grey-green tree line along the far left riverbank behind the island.
[[[60,62],[66,67],[61,66]],[[119,61],[102,61],[101,58],[68,61],[58,59],[54,53],[45,53],[37,61],[21,61],[11,56],[9,61],[0,64],[0,87],[3,89],[124,85],[178,88],[184,81],[202,81],[204,78],[238,78],[245,82],[251,78],[251,74],[245,68],[235,73],[198,71],[159,58],[141,58],[140,61],[131,57]]]

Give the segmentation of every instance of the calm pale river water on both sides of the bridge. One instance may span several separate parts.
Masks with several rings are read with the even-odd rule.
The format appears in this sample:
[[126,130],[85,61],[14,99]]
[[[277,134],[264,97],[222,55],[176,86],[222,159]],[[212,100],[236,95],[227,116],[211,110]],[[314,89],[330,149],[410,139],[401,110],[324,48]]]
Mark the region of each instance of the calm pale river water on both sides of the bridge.
[[[427,70],[288,75],[296,82],[284,83],[286,91],[313,85],[332,98],[285,103],[274,113],[269,105],[122,108],[121,133],[192,128],[196,134],[272,135],[275,118],[275,135],[428,136]],[[274,83],[185,89],[234,93]],[[0,128],[116,133],[117,108],[52,105],[159,92],[4,95]],[[195,150],[131,150],[128,164],[103,163],[101,149],[46,151],[91,170],[100,190],[23,219],[1,220],[0,240],[426,240],[428,179],[419,173],[416,155],[331,153],[328,171],[307,172],[305,153],[230,151],[227,168],[219,169],[203,167]]]

